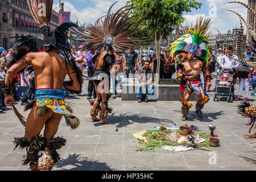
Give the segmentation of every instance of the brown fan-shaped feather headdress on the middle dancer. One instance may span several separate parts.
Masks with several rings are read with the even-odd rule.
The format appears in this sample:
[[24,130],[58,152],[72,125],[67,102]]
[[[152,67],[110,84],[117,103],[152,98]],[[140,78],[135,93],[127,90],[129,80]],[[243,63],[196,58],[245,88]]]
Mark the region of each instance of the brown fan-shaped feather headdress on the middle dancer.
[[[117,2],[115,2],[117,3]],[[129,16],[133,6],[125,6],[111,13],[112,7],[105,16],[97,19],[94,24],[86,24],[84,38],[88,45],[88,49],[100,51],[113,49],[117,53],[122,53],[129,48],[133,48],[136,43],[142,40],[131,38],[137,30],[141,20],[137,20],[137,16]]]

